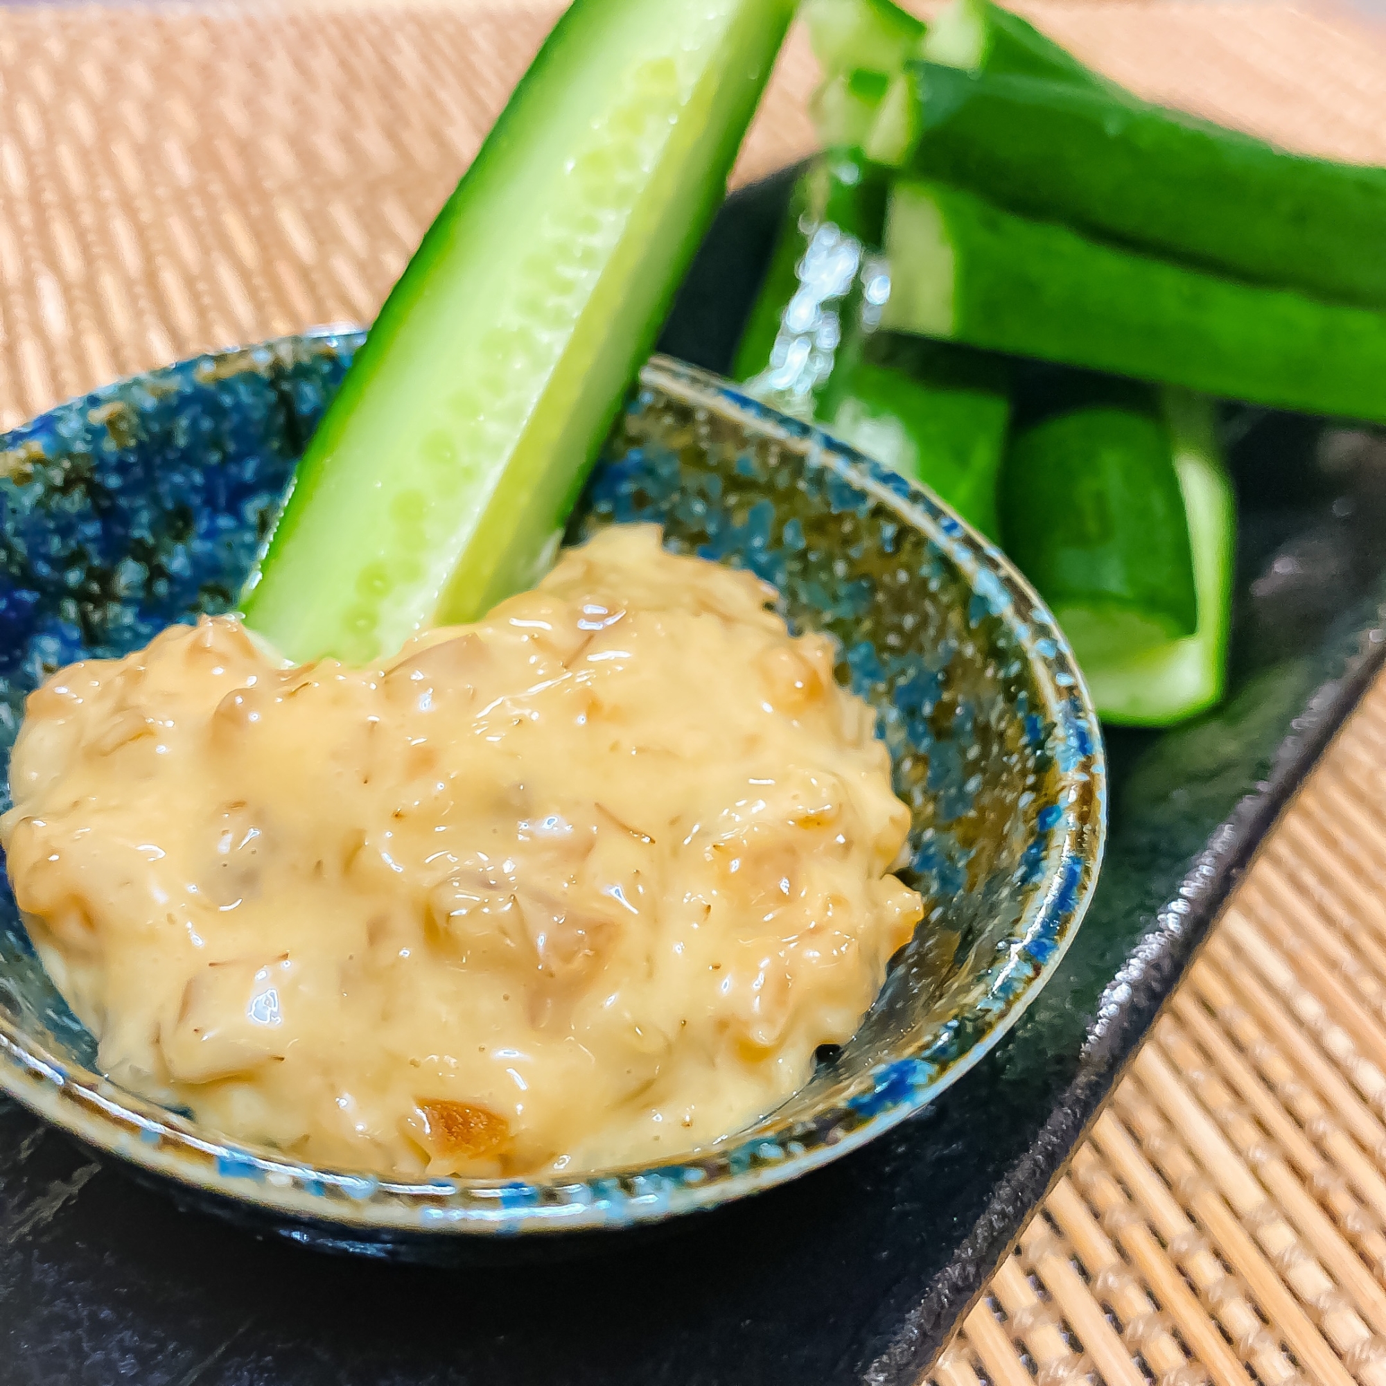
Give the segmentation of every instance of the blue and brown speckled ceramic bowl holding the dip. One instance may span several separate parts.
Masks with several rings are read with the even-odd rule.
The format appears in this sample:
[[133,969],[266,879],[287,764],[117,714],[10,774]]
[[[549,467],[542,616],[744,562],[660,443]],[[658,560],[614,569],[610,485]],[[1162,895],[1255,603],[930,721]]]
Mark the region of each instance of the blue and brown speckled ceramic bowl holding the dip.
[[[358,333],[202,356],[0,438],[0,750],[54,668],[226,610]],[[1096,717],[1049,613],[924,492],[667,359],[643,371],[574,536],[658,520],[671,547],[773,582],[841,642],[913,809],[927,916],[857,1037],[797,1096],[654,1168],[395,1184],[243,1146],[94,1073],[91,1037],[0,891],[0,1087],[170,1181],[312,1245],[398,1258],[499,1234],[661,1221],[782,1184],[918,1112],[1015,1024],[1073,940],[1102,855]],[[168,1186],[168,1185],[165,1185]],[[470,1234],[459,1236],[459,1234]],[[534,1238],[527,1238],[532,1243]]]

